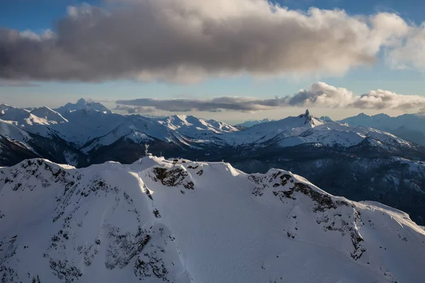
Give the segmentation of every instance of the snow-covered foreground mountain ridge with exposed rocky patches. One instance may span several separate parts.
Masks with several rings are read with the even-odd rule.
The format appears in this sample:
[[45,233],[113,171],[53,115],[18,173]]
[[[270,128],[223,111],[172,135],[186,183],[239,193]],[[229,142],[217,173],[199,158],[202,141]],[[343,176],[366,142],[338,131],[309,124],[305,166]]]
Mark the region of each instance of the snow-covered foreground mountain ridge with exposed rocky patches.
[[2,282],[422,282],[423,262],[407,214],[288,171],[155,157],[0,169]]

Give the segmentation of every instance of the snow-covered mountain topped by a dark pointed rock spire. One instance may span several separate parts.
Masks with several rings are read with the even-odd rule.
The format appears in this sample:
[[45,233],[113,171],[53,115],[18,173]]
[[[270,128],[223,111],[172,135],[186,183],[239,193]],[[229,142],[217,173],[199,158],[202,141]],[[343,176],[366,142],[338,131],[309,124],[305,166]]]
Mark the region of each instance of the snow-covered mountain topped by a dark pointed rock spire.
[[254,143],[256,146],[276,144],[280,147],[314,144],[317,146],[341,146],[348,148],[365,141],[385,150],[414,148],[416,145],[393,134],[367,127],[349,127],[333,121],[324,121],[305,114],[283,120],[255,125],[240,133],[234,140],[239,144]]

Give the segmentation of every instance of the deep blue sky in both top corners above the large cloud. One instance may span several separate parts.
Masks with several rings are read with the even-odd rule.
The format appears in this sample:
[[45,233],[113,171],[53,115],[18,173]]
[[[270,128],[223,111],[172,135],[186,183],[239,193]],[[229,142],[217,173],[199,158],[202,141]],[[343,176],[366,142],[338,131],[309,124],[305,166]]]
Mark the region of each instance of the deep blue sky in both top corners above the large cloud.
[[[402,18],[416,23],[424,21],[425,4],[422,0],[280,0],[288,8],[305,10],[311,6],[324,9],[341,8],[351,14],[370,14],[378,11],[399,13]],[[67,6],[81,3],[101,5],[96,0],[1,0],[0,26],[18,30],[52,28],[55,21],[65,16]]]

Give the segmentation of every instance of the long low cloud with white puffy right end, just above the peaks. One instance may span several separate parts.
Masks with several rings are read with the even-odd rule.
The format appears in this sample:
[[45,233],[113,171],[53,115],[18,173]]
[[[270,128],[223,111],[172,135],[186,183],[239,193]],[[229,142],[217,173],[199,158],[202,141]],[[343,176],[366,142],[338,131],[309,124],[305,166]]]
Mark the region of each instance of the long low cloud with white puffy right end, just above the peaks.
[[[232,110],[255,112],[291,106],[320,108],[359,108],[375,110],[425,110],[425,97],[404,96],[391,91],[370,91],[361,96],[354,95],[346,88],[329,86],[327,83],[313,83],[308,90],[301,90],[293,96],[283,98],[244,98],[223,96],[212,99],[154,99],[117,100],[119,105],[137,108],[151,108],[169,112]],[[120,106],[128,107],[128,106]]]

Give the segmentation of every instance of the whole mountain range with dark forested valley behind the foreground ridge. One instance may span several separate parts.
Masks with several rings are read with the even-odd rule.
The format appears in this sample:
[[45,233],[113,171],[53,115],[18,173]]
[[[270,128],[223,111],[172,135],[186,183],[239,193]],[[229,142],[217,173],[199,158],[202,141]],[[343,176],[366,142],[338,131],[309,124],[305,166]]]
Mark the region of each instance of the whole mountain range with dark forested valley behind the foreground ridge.
[[133,163],[146,151],[225,160],[247,173],[284,168],[333,195],[382,202],[425,223],[425,149],[379,129],[314,117],[308,110],[241,129],[187,115],[119,115],[83,99],[55,110],[0,106],[0,166],[27,158],[79,168]]

